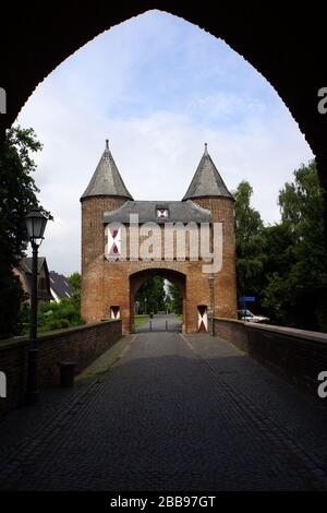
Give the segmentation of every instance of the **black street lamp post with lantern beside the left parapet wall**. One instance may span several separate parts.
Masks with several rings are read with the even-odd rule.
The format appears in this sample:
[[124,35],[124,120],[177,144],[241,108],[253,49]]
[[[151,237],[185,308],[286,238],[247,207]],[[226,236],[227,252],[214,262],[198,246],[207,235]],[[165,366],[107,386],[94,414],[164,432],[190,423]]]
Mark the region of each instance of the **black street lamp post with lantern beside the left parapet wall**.
[[44,239],[44,232],[48,218],[41,213],[40,208],[35,208],[25,217],[26,229],[29,242],[32,244],[32,286],[31,286],[31,321],[29,321],[29,343],[27,355],[27,383],[26,383],[26,403],[36,404],[38,402],[38,380],[37,380],[37,360],[38,349],[37,339],[37,252]]

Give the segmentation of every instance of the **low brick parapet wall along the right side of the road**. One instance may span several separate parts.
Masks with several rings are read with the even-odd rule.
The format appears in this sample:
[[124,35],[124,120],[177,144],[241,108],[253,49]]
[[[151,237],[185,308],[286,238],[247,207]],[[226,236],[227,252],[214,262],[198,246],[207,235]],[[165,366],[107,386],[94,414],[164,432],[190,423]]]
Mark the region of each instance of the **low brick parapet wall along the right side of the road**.
[[327,334],[234,319],[215,319],[215,334],[317,396],[317,377],[327,371]]

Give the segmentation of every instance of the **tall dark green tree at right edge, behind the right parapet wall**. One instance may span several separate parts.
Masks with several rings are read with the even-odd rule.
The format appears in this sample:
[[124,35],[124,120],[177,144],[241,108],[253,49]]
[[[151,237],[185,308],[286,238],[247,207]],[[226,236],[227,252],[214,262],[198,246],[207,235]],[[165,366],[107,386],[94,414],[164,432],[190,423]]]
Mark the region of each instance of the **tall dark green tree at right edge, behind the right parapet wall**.
[[266,232],[263,303],[283,324],[327,331],[324,193],[315,162],[294,171],[294,181],[280,191],[279,205],[281,223]]

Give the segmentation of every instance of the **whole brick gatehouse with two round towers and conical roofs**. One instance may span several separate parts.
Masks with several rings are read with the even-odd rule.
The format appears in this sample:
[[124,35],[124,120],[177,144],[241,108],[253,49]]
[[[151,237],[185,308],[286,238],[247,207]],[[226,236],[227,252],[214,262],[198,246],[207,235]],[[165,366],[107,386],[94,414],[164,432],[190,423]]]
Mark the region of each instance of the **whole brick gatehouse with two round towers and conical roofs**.
[[[211,315],[237,318],[234,200],[207,145],[182,201],[134,201],[106,141],[81,203],[82,317],[86,322],[121,318],[123,333],[133,332],[134,296],[156,275],[179,287],[184,332],[208,331]],[[205,228],[211,256],[219,239],[215,235],[220,235],[221,265],[211,271],[214,256],[210,260],[202,252]]]

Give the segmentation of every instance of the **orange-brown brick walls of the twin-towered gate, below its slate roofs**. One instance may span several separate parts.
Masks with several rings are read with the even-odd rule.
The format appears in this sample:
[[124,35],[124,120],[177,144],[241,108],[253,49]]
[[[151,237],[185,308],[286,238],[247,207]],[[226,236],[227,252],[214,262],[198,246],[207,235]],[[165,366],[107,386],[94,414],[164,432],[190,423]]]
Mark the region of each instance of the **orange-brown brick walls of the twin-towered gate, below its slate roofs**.
[[[96,322],[110,317],[110,307],[120,308],[123,333],[134,329],[134,295],[137,290],[136,273],[154,270],[181,284],[183,296],[183,331],[197,332],[197,307],[210,307],[208,274],[203,273],[203,261],[178,261],[175,254],[175,235],[172,260],[159,262],[130,261],[109,262],[105,258],[104,213],[118,208],[124,203],[123,198],[87,198],[82,201],[82,317],[86,322]],[[210,210],[213,220],[222,223],[222,270],[216,275],[214,285],[214,308],[219,317],[237,318],[237,277],[235,277],[235,238],[234,205],[229,198],[199,198],[194,202]],[[162,228],[164,229],[164,228]],[[126,230],[129,240],[129,230]],[[141,238],[142,240],[142,238]],[[164,237],[162,259],[164,253]],[[187,238],[186,238],[187,242]],[[129,247],[129,244],[128,244]],[[186,243],[186,256],[190,250]],[[175,274],[171,274],[171,271]],[[177,273],[180,273],[179,275]],[[140,276],[141,277],[141,276]],[[146,275],[143,274],[146,278]],[[208,312],[209,313],[209,312]]]

